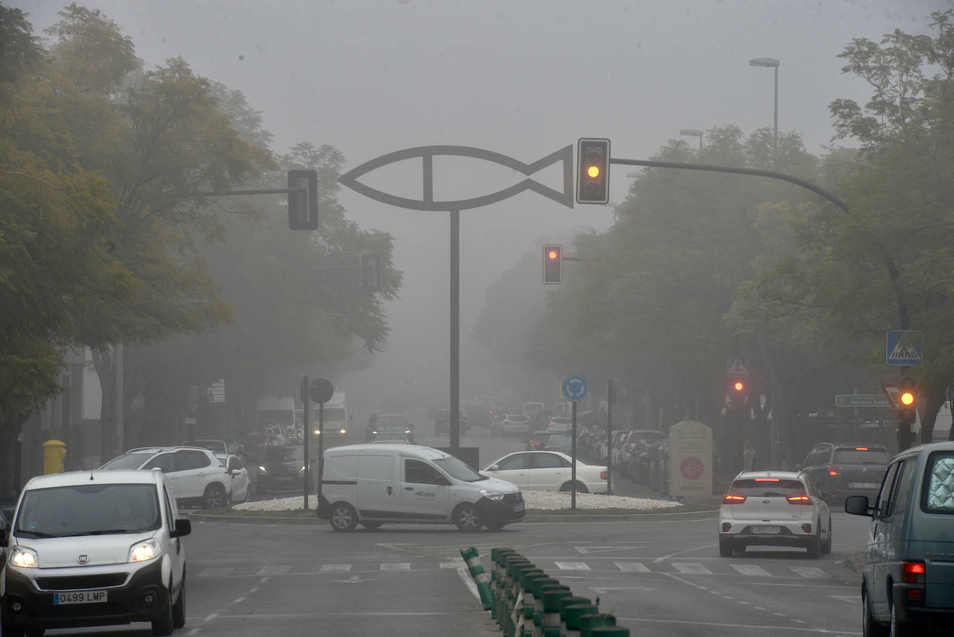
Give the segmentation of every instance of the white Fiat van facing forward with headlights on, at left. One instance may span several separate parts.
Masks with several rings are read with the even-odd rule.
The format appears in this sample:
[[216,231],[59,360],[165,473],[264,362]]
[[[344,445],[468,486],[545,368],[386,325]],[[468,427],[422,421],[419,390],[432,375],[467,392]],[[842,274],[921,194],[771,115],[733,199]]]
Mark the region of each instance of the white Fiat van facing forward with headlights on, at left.
[[132,622],[172,634],[185,625],[180,538],[191,532],[159,471],[32,478],[0,531],[4,637]]

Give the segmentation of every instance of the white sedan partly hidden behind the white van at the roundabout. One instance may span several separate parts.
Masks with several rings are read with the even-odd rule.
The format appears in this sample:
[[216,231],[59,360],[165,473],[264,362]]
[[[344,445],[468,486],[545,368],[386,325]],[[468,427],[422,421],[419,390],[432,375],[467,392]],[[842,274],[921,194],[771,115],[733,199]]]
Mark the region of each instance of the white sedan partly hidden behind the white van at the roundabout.
[[[550,451],[520,451],[494,460],[481,473],[507,480],[525,491],[570,491],[570,456]],[[606,467],[576,461],[576,490],[606,493]]]

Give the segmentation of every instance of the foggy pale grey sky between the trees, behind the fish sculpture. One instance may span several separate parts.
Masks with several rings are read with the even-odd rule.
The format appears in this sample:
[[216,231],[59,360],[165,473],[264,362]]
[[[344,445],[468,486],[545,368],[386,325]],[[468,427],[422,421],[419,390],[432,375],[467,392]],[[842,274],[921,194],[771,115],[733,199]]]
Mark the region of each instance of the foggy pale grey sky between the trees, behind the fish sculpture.
[[[26,11],[42,34],[65,3],[7,4]],[[77,4],[113,19],[147,68],[181,56],[196,74],[241,91],[277,153],[302,140],[330,143],[348,168],[431,144],[529,163],[580,137],[611,138],[615,158],[650,159],[680,129],[735,124],[748,135],[773,125],[774,72],[748,64],[766,56],[780,60],[779,130],[800,134],[810,153],[821,154],[832,143],[828,104],[870,95],[861,80],[841,74],[844,46],[896,28],[918,32],[930,11],[951,7],[944,0]],[[392,166],[366,181],[420,198],[420,172],[420,164]],[[611,202],[626,197],[628,172],[613,169]],[[476,160],[435,161],[435,199],[487,194],[518,177]],[[559,177],[550,170],[535,179],[562,189]],[[446,397],[448,215],[344,188],[340,200],[355,222],[395,236],[404,287],[387,306],[387,350],[373,368],[333,380],[365,398]],[[499,389],[490,357],[469,338],[487,286],[541,244],[611,223],[611,206],[570,209],[533,192],[462,212],[462,397]]]

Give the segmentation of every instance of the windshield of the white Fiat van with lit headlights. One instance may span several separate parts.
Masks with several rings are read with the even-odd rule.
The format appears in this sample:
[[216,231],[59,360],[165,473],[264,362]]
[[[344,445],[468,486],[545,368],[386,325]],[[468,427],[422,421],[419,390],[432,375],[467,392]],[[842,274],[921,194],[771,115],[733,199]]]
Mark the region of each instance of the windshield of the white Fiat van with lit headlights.
[[23,495],[16,533],[63,538],[138,533],[162,523],[155,484],[92,484],[31,489]]

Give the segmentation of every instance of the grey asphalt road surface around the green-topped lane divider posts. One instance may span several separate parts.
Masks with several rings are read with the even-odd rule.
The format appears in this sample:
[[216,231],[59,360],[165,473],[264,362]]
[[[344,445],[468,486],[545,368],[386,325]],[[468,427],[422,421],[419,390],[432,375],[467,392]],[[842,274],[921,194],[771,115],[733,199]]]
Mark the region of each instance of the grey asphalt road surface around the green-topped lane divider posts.
[[[846,561],[864,520],[834,516],[831,555],[750,549],[720,558],[715,520],[523,523],[492,533],[384,525],[202,523],[185,540],[187,623],[181,635],[499,635],[481,609],[460,550],[508,546],[600,599],[631,634],[859,635],[860,575]],[[132,629],[130,629],[132,627]],[[148,625],[48,634],[149,634]]]

